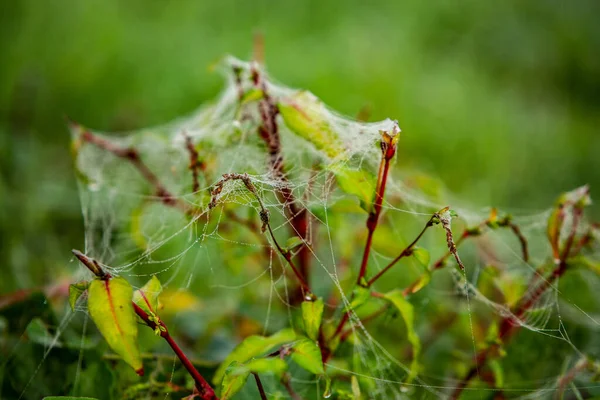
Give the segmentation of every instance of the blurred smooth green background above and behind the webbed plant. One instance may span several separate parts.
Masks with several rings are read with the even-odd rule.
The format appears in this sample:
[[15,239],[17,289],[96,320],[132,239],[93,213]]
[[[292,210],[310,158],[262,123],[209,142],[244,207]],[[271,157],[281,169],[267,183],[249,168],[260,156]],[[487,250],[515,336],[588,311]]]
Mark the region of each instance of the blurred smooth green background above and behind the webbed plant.
[[0,293],[47,282],[82,247],[63,116],[120,131],[190,113],[221,88],[209,67],[248,58],[257,30],[276,79],[398,119],[398,168],[473,207],[596,195],[598,15],[594,0],[4,1]]

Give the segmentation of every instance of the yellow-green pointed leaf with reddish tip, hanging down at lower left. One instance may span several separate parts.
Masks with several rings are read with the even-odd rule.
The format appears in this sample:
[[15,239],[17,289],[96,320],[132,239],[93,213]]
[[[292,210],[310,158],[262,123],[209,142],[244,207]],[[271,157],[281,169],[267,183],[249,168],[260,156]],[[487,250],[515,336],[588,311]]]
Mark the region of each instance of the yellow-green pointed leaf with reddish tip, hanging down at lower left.
[[88,288],[88,310],[111,349],[142,375],[132,297],[133,288],[124,278],[93,280]]

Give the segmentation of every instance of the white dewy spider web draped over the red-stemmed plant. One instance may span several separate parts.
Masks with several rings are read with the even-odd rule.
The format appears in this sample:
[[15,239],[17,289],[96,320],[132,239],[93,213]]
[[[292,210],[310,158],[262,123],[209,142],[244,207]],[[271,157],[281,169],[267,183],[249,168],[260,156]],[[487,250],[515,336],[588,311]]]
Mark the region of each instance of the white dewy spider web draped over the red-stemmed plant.
[[[224,316],[237,321],[215,332],[228,343],[239,342],[244,329],[247,334],[268,335],[297,327],[297,281],[272,238],[261,231],[264,207],[279,243],[298,234],[290,205],[281,201],[281,193],[289,192],[296,209],[307,213],[303,246],[308,249],[312,292],[325,299],[325,324],[335,326],[344,311],[350,310],[345,329],[348,340],[341,345],[340,356],[326,363],[334,382],[354,378],[369,399],[449,396],[486,344],[486,331],[493,329],[495,321],[511,316],[511,305],[523,295],[527,282],[538,274],[539,266],[548,264],[546,221],[552,209],[517,211],[512,217],[527,239],[527,260],[509,229],[484,226],[481,235],[459,247],[464,271],[448,258],[444,268],[432,273],[429,284],[408,297],[423,345],[419,373],[409,379],[414,350],[398,313],[388,310],[378,321],[365,322],[365,314],[350,306],[367,213],[356,193],[342,190],[335,174],[344,170],[375,176],[381,160],[380,130],[392,130],[395,122],[353,121],[328,109],[309,92],[285,87],[260,71],[262,90],[274,103],[302,106],[303,112],[318,116],[325,132],[319,138],[303,137],[279,116],[281,158],[273,162],[269,144],[257,134],[264,122],[253,83],[257,66],[228,58],[221,69],[225,89],[189,117],[126,135],[73,127],[85,253],[137,287],[157,275],[166,289],[166,303],[182,293],[197,296],[202,307],[196,315],[202,316],[206,326]],[[84,131],[109,143],[112,151],[82,141]],[[135,155],[127,149],[134,149]],[[283,163],[283,176],[278,174],[278,162]],[[256,193],[239,179],[223,179],[224,174],[247,174]],[[473,210],[434,179],[395,168],[388,179],[368,276],[394,259],[431,215],[449,203],[458,214],[452,221],[455,239],[464,229],[490,218],[489,209]],[[578,232],[587,229],[590,225],[584,221]],[[418,245],[429,250],[431,260],[448,251],[439,226],[427,231]],[[299,256],[299,252],[294,254]],[[589,250],[589,257],[597,260],[598,249]],[[382,293],[404,289],[424,270],[412,258],[402,260],[373,287]],[[568,290],[562,290],[562,280],[568,281]],[[592,295],[582,300],[573,289]],[[597,277],[586,271],[569,272],[552,282],[534,307],[515,316],[524,329],[506,343],[506,354],[490,361],[499,387],[485,383],[486,379],[489,383],[490,367],[479,365],[478,379],[465,389],[464,396],[488,398],[499,390],[517,398],[552,397],[563,390],[575,395],[600,393],[589,373],[579,374],[573,381],[576,386],[569,381],[566,388],[561,387],[561,379],[582,357],[600,357],[600,302],[593,296],[599,289]],[[79,306],[77,312],[85,314],[85,307]],[[206,326],[194,329],[210,332]],[[59,327],[56,338],[61,331]],[[524,349],[535,343],[539,347]],[[53,346],[50,343],[44,360]],[[200,353],[220,361],[226,351],[219,353],[215,347],[211,341],[196,345]],[[527,363],[541,357],[538,349],[547,347],[556,348],[548,356],[549,366],[541,371],[528,369]],[[315,398],[324,390],[323,382],[296,370],[292,370],[292,385],[303,398]],[[267,389],[269,395],[288,396],[276,385]]]

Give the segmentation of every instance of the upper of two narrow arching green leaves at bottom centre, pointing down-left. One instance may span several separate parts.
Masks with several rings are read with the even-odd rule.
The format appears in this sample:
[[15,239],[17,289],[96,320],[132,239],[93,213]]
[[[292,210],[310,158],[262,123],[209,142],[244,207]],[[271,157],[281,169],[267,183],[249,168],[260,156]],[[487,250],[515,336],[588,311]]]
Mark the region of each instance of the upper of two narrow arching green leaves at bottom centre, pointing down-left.
[[244,339],[229,355],[223,360],[219,368],[215,371],[213,383],[218,385],[223,377],[227,367],[234,361],[244,363],[253,357],[263,355],[277,346],[292,342],[296,339],[296,333],[293,329],[283,329],[269,337],[252,335]]

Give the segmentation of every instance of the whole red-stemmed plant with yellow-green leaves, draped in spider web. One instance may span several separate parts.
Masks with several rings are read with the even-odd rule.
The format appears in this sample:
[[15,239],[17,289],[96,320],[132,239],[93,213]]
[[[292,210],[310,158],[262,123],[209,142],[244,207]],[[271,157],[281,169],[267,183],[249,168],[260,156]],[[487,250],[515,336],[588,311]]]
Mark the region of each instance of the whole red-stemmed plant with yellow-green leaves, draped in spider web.
[[587,187],[533,215],[450,208],[394,168],[397,122],[340,116],[257,63],[222,69],[221,95],[172,124],[72,124],[95,276],[71,304],[114,368],[145,371],[114,396],[600,395]]

